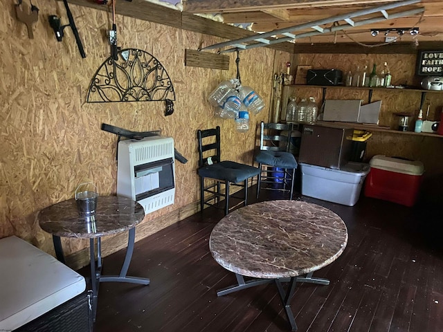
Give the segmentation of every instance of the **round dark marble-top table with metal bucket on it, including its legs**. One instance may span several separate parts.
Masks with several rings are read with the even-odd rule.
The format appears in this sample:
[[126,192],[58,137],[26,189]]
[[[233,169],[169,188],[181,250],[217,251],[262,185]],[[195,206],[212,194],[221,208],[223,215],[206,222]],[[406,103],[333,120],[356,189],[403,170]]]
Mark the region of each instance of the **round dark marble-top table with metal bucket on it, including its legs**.
[[[95,213],[85,216],[75,199],[62,201],[39,211],[37,221],[42,230],[53,235],[57,259],[64,263],[60,237],[89,239],[92,284],[92,317],[95,321],[100,282],[128,282],[150,284],[144,277],[129,277],[127,270],[132,259],[136,225],[145,217],[143,206],[123,196],[98,196]],[[101,237],[128,231],[125,260],[118,275],[102,275]],[[97,252],[94,239],[97,241]],[[97,254],[97,259],[96,259]]]

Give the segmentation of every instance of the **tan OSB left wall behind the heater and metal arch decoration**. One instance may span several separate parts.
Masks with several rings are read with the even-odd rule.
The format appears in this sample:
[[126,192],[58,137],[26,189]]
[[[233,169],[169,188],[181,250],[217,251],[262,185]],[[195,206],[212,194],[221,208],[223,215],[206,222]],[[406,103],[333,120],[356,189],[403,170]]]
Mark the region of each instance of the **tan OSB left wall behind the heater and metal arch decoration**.
[[[253,130],[238,133],[234,121],[215,118],[206,101],[219,82],[235,77],[235,54],[230,54],[229,71],[184,66],[186,48],[221,39],[117,15],[118,45],[151,53],[168,71],[175,111],[165,117],[164,102],[88,104],[89,82],[109,57],[109,13],[70,6],[87,53],[82,59],[70,28],[57,42],[48,24],[48,15],[55,14],[67,23],[63,3],[35,5],[39,21],[33,27],[35,39],[28,39],[26,26],[15,19],[14,3],[0,0],[0,238],[15,234],[53,253],[51,236],[35,222],[39,210],[73,198],[78,184],[87,181],[96,183],[100,195],[116,193],[117,136],[100,130],[102,123],[133,131],[161,129],[189,160],[184,165],[176,162],[175,203],[146,216],[143,227],[148,229],[152,220],[199,199],[197,129],[219,125],[222,156],[252,164]],[[253,86],[267,105],[274,55],[266,48],[240,54],[242,82]],[[251,114],[251,127],[268,117],[268,107]],[[158,229],[152,225],[153,232]],[[85,248],[87,241],[69,239],[63,244],[70,255]]]

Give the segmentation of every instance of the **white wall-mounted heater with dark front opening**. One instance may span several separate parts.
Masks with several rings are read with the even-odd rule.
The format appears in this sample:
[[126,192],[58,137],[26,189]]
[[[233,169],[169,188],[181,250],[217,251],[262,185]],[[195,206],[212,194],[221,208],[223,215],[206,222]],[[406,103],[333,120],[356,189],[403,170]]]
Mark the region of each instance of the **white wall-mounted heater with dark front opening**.
[[145,214],[174,204],[174,140],[152,136],[118,142],[117,194],[140,203]]

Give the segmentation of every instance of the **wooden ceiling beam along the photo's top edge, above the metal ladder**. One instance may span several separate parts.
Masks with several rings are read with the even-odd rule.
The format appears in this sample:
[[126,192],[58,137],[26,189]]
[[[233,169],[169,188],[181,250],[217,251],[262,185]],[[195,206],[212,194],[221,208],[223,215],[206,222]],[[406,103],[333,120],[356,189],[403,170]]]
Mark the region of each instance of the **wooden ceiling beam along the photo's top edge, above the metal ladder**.
[[256,10],[315,8],[365,4],[386,4],[398,0],[186,0],[183,11],[192,13],[248,12]]

